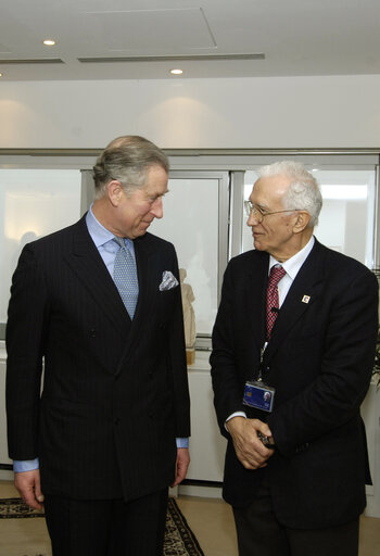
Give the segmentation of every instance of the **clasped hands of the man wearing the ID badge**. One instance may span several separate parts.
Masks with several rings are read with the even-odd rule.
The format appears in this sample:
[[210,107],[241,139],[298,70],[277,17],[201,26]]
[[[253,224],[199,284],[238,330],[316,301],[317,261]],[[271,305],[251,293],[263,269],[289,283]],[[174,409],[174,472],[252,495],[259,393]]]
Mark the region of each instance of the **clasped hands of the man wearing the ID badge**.
[[266,462],[274,451],[264,446],[257,432],[271,437],[269,427],[259,419],[245,419],[240,416],[229,419],[226,427],[232,438],[237,457],[245,469],[266,467]]

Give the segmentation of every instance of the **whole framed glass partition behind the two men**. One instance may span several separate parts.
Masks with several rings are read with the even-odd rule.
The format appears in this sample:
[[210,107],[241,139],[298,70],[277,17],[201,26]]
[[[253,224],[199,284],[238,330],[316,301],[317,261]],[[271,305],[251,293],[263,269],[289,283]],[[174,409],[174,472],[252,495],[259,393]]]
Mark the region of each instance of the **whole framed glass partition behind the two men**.
[[[372,268],[379,242],[376,206],[378,155],[295,155],[315,173],[324,207],[315,233],[324,244],[344,252]],[[151,231],[172,241],[186,283],[194,293],[197,344],[210,337],[217,311],[228,257],[253,248],[243,213],[262,164],[284,155],[271,153],[208,157],[191,153],[172,156],[174,170],[164,200],[164,218]],[[0,339],[3,338],[11,277],[22,247],[78,219],[93,198],[93,161],[0,156]],[[7,165],[5,165],[7,164]],[[207,348],[208,343],[205,341]]]

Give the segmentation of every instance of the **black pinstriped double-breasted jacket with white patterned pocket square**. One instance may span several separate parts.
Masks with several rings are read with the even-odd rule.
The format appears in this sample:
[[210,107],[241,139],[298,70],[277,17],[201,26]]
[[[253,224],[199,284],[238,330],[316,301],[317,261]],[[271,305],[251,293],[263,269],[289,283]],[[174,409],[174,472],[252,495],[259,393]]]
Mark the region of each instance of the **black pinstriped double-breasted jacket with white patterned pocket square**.
[[85,217],[20,257],[7,326],[9,454],[40,458],[46,493],[130,500],[173,482],[189,394],[180,288],[159,285],[164,270],[179,281],[177,258],[150,233],[135,252],[132,321]]

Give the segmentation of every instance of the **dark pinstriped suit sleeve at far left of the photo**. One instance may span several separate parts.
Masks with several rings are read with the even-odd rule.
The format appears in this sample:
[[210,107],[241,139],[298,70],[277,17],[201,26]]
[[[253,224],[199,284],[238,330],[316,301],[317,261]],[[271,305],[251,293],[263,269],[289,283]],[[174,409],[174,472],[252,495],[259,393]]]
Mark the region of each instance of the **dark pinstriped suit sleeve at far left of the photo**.
[[31,245],[13,275],[7,323],[8,444],[12,459],[38,456],[38,420],[48,313],[47,289]]

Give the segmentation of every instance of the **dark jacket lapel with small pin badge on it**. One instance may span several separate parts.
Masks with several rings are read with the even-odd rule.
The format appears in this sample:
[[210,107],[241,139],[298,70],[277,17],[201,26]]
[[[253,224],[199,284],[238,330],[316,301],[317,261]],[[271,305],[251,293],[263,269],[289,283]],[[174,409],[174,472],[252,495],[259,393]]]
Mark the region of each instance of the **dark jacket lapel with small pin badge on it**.
[[320,295],[324,282],[321,249],[320,243],[316,241],[281,305],[281,311],[277,317],[271,339],[265,353],[267,361],[286,340],[294,324]]

